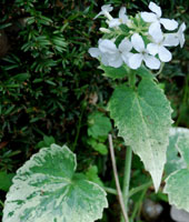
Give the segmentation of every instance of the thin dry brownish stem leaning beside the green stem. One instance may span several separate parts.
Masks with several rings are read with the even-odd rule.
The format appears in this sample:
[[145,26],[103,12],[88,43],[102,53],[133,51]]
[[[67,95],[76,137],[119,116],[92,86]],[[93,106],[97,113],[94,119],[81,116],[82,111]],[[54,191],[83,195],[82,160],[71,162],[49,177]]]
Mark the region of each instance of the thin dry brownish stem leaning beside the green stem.
[[109,148],[110,148],[111,162],[112,162],[113,174],[115,174],[115,180],[116,180],[116,186],[117,186],[117,191],[118,191],[118,199],[119,199],[119,203],[120,203],[120,206],[121,206],[123,221],[129,222],[128,214],[127,214],[125,203],[123,203],[121,188],[120,188],[120,184],[119,184],[119,178],[118,178],[118,171],[117,171],[117,167],[116,167],[116,158],[115,158],[115,150],[113,150],[113,143],[112,143],[111,134],[109,134],[108,139],[109,139]]

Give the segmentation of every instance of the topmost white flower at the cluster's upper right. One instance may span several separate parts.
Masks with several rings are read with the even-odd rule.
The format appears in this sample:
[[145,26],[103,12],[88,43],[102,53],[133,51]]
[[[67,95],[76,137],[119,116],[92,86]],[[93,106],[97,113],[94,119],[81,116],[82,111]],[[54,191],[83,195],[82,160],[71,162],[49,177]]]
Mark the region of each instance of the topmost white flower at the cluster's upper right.
[[165,18],[161,18],[161,8],[158,7],[156,3],[153,2],[150,2],[149,3],[149,9],[152,11],[152,12],[141,12],[141,18],[146,21],[146,22],[150,22],[150,27],[149,27],[149,30],[150,29],[153,29],[153,26],[157,26],[157,23],[161,23],[165,29],[167,30],[175,30],[178,28],[178,22],[173,19],[165,19]]

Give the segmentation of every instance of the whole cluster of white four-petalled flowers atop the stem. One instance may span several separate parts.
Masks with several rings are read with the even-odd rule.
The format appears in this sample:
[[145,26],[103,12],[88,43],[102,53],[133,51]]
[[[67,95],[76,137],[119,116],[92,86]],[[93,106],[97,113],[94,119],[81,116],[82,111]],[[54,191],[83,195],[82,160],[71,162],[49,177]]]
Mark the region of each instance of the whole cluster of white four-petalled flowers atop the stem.
[[[126,14],[126,8],[119,11],[119,18],[112,18],[110,4],[102,6],[99,16],[107,18],[108,29],[100,28],[105,33],[99,40],[98,48],[90,48],[91,57],[97,58],[102,64],[119,68],[127,64],[138,69],[142,61],[150,69],[159,69],[161,62],[169,62],[171,52],[166,47],[183,47],[186,24],[178,29],[173,19],[161,18],[161,8],[150,2],[151,12],[140,12],[136,18]],[[163,33],[163,30],[171,31]],[[178,29],[177,32],[172,32]]]

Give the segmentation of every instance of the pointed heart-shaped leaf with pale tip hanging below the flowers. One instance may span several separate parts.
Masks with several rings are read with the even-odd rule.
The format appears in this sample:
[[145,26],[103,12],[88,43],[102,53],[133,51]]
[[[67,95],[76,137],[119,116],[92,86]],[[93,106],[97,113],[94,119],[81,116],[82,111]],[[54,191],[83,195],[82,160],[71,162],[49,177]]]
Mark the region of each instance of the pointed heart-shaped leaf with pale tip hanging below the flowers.
[[119,135],[140,157],[158,191],[172,123],[171,108],[162,90],[150,79],[142,79],[137,90],[118,87],[108,109]]

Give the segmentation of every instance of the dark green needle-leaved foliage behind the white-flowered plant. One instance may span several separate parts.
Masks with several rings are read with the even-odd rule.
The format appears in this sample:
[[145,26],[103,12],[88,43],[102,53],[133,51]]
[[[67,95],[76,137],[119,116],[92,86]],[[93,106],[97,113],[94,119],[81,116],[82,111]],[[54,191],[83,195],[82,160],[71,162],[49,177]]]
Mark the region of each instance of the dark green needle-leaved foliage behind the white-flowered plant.
[[[163,16],[188,24],[189,2],[159,0]],[[56,142],[78,154],[78,169],[90,180],[115,188],[106,134],[112,129],[107,102],[117,81],[102,75],[99,63],[88,54],[101,37],[102,20],[92,20],[105,3],[118,14],[147,10],[147,0],[2,0],[0,3],[0,215],[11,178],[40,148]],[[172,51],[173,60],[159,75],[175,110],[175,125],[189,128],[189,36],[183,49]],[[100,117],[101,123],[96,119]],[[108,119],[108,120],[107,120]],[[93,134],[107,125],[103,137]],[[123,168],[125,147],[115,138],[117,162]],[[98,145],[97,145],[98,144]],[[133,157],[132,184],[149,180]],[[142,173],[141,173],[142,172]],[[101,180],[100,180],[100,178]],[[148,191],[146,196],[150,195]],[[162,195],[151,196],[162,200]],[[133,202],[138,200],[133,198]],[[142,200],[141,200],[142,201]],[[110,209],[101,221],[118,220],[118,204],[109,195]],[[111,220],[110,220],[111,219]]]

